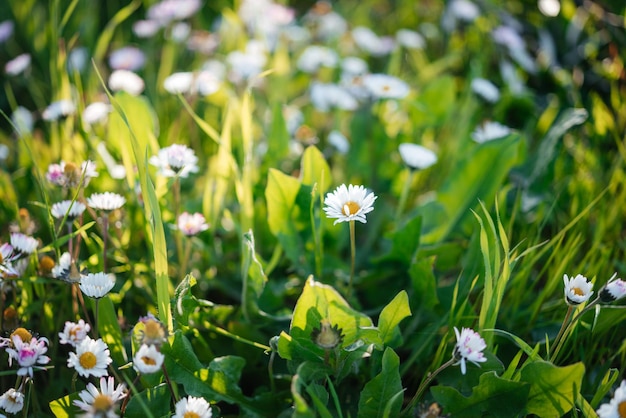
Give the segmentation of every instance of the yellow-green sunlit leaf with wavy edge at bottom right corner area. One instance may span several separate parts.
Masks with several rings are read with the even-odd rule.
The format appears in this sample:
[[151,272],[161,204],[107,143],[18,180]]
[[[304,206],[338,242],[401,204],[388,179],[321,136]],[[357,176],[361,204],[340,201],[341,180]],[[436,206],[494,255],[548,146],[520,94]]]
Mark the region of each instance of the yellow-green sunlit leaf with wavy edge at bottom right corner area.
[[557,367],[546,361],[527,363],[521,381],[530,383],[526,410],[541,417],[561,417],[572,409],[582,385],[585,365]]

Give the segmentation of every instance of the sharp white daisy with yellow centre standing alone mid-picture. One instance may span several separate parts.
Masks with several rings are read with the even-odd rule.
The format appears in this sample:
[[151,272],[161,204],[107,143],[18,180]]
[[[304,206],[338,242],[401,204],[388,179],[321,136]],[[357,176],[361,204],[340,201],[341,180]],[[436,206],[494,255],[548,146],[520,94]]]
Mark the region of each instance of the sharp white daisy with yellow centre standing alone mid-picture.
[[374,210],[374,200],[378,196],[367,192],[363,186],[345,184],[326,195],[324,199],[324,212],[329,218],[337,219],[333,225],[339,222],[359,221],[367,223],[365,215]]

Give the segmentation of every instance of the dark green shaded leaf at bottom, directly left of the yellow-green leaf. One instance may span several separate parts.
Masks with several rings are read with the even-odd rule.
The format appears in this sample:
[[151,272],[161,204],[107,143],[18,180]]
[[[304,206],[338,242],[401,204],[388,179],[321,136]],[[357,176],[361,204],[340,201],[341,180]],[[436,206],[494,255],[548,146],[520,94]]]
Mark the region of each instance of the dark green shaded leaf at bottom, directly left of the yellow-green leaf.
[[458,390],[447,386],[435,386],[431,393],[444,408],[444,413],[455,418],[518,417],[524,411],[530,384],[499,378],[495,372],[480,376],[478,386],[465,397]]

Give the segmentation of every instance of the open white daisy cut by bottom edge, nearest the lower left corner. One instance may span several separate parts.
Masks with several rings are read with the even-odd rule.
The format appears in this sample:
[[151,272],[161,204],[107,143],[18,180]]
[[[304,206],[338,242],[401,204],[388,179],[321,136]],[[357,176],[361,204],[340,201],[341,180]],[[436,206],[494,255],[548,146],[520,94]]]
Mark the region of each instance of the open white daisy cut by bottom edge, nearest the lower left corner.
[[89,383],[78,397],[80,400],[74,400],[74,405],[86,412],[83,417],[114,418],[118,416],[117,403],[126,397],[126,387],[121,383],[115,386],[113,377],[101,377],[100,390]]

